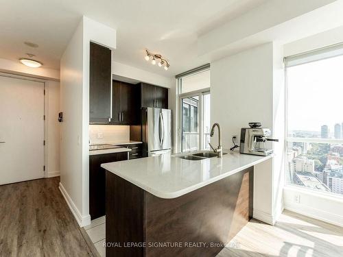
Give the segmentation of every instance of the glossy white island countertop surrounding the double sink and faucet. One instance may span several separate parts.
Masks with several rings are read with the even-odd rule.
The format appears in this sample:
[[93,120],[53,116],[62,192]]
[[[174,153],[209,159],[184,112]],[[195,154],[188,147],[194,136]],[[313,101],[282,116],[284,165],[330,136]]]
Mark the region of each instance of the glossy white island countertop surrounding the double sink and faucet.
[[156,197],[170,199],[222,180],[269,158],[272,156],[229,153],[223,158],[185,160],[167,153],[101,166]]

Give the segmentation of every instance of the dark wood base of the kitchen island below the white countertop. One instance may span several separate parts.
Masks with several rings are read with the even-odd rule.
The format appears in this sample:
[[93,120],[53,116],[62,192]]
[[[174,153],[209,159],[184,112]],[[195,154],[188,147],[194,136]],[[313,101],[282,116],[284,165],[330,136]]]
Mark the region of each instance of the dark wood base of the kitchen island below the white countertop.
[[163,199],[106,171],[106,256],[215,256],[252,218],[253,173]]

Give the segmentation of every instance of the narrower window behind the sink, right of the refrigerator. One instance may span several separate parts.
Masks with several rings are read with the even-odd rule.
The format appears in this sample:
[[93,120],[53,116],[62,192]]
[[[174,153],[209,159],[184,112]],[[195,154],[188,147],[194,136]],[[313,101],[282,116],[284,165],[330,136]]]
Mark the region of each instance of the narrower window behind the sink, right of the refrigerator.
[[178,77],[181,151],[209,149],[209,68]]

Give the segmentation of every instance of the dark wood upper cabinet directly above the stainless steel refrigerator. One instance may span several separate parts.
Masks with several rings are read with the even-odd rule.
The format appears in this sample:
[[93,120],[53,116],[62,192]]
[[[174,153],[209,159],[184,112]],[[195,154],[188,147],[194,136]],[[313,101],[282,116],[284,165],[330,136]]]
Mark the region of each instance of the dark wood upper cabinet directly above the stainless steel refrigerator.
[[141,83],[141,107],[168,108],[168,89]]

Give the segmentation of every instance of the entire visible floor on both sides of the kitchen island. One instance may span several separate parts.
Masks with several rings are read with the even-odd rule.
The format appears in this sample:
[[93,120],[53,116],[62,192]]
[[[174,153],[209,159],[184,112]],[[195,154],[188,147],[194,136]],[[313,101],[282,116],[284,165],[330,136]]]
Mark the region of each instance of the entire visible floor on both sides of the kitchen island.
[[[105,219],[80,229],[58,182],[49,178],[0,186],[1,257],[104,256]],[[252,219],[217,255],[245,256],[343,256],[343,229],[286,210],[274,226]]]

